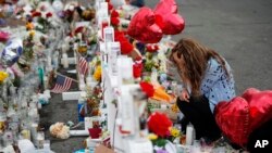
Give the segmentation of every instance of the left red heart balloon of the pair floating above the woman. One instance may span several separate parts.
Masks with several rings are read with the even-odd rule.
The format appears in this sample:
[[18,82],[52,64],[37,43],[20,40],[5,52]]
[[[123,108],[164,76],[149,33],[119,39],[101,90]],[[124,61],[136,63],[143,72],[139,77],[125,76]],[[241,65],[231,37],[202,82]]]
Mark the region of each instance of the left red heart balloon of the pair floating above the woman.
[[146,7],[133,16],[127,34],[144,43],[157,43],[162,38],[162,30],[156,24],[152,10]]

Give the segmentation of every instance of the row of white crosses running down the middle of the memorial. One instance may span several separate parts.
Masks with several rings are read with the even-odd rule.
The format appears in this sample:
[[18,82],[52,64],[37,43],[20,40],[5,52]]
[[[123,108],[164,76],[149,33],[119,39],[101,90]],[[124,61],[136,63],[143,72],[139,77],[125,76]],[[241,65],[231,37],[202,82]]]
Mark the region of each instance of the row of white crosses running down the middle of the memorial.
[[[102,22],[110,21],[107,2],[97,1],[98,27],[103,41],[99,42],[102,64],[102,85],[106,87],[103,100],[107,103],[108,130],[111,133],[111,145],[126,153],[152,153],[152,144],[139,136],[139,110],[133,93],[139,90],[133,84],[133,60],[121,55],[120,42],[114,41],[114,29],[102,27]],[[110,25],[108,23],[108,25]],[[115,101],[115,103],[113,103]],[[116,106],[118,105],[118,106]],[[126,131],[125,133],[121,131]]]

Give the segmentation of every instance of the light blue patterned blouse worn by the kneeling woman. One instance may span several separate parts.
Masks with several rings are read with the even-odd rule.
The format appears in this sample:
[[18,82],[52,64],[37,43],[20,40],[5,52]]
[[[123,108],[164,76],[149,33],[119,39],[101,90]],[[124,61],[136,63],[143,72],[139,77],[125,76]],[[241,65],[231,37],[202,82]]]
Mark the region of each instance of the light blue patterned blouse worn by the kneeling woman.
[[209,60],[206,75],[201,82],[201,93],[209,99],[211,112],[214,111],[219,102],[228,101],[235,97],[234,79],[231,67],[227,62],[225,62],[225,65],[226,69],[230,72],[230,78],[217,60]]

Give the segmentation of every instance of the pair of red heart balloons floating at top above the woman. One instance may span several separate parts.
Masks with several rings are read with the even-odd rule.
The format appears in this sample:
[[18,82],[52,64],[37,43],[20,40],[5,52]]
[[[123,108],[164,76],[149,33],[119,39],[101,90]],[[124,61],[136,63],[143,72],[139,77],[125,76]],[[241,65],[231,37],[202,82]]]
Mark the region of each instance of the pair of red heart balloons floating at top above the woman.
[[161,0],[154,10],[141,8],[132,18],[127,34],[144,43],[157,43],[163,35],[180,34],[184,26],[175,0]]

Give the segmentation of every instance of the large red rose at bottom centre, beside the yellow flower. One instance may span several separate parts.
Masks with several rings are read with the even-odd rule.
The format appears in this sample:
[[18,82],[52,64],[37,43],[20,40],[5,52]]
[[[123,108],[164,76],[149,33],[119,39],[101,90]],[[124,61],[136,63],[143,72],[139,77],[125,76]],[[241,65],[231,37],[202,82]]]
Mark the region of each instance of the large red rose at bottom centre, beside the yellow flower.
[[169,133],[169,128],[172,126],[172,122],[165,114],[153,113],[148,119],[148,128],[160,137],[165,137]]

